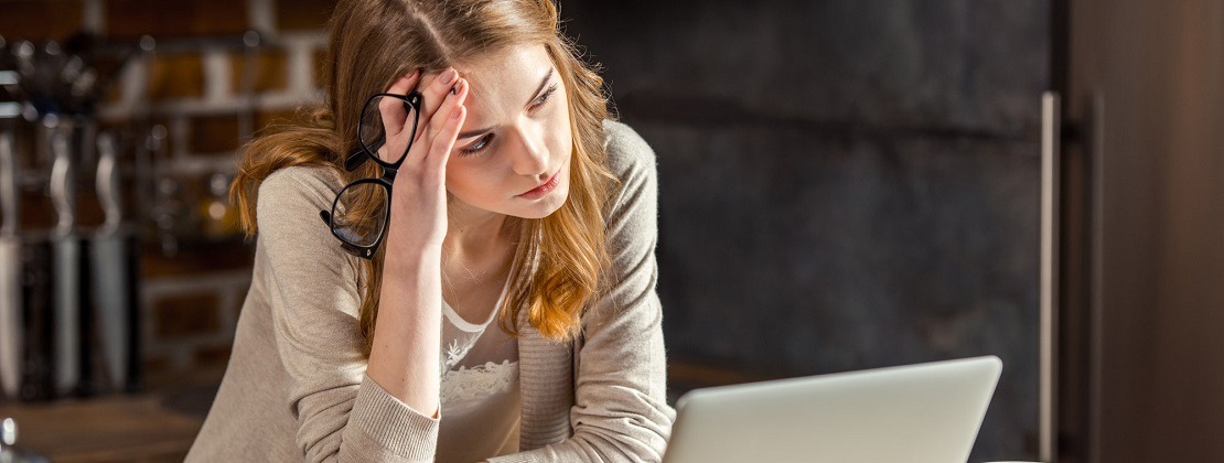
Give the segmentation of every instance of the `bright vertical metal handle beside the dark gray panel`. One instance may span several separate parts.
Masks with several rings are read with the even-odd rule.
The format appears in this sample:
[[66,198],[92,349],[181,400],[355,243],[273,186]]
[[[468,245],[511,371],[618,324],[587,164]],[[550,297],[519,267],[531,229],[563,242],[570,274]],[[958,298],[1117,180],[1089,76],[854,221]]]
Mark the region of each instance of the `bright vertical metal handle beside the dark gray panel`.
[[1042,96],[1042,273],[1040,273],[1040,372],[1038,435],[1042,462],[1058,459],[1058,316],[1059,316],[1059,152],[1062,121],[1059,94]]

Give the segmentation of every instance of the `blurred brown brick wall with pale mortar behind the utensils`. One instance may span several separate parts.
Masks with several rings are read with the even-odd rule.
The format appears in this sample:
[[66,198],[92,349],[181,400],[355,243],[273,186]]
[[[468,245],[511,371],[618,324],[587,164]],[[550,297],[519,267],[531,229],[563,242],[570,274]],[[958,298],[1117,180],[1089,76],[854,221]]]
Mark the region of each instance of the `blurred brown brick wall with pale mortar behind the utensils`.
[[[209,218],[209,183],[233,178],[235,151],[251,134],[321,99],[317,70],[333,6],[334,0],[0,5],[0,36],[9,43],[62,42],[78,31],[116,40],[154,39],[153,50],[124,67],[98,108],[100,129],[122,134],[121,159],[130,162],[149,134],[162,135],[162,148],[152,153],[153,184],[141,190],[132,179],[126,183],[132,209],[148,212],[138,224],[146,236],[141,336],[154,386],[181,372],[220,369],[229,358],[252,249],[233,227],[217,227]],[[257,40],[244,43],[251,31],[257,34],[246,38]],[[125,169],[133,176],[135,168]],[[24,224],[54,222],[39,192],[26,191],[22,203]],[[89,223],[99,214],[82,216]]]

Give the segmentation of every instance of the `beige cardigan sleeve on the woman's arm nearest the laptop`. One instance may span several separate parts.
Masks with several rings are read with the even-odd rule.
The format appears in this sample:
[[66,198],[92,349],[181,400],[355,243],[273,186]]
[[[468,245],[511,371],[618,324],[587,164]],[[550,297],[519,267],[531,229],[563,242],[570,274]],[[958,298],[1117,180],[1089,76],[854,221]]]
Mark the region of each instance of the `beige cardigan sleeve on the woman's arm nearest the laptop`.
[[610,122],[610,167],[621,179],[607,214],[607,290],[583,315],[577,352],[573,436],[507,456],[525,462],[657,462],[671,436],[659,268],[655,153],[636,132]]

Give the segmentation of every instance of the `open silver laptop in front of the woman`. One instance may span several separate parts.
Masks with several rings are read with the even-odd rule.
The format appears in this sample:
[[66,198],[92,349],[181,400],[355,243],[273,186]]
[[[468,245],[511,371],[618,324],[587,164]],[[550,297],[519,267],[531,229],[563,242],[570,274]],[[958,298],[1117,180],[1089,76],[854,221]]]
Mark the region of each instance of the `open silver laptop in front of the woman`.
[[663,462],[965,462],[1001,371],[991,355],[693,390]]

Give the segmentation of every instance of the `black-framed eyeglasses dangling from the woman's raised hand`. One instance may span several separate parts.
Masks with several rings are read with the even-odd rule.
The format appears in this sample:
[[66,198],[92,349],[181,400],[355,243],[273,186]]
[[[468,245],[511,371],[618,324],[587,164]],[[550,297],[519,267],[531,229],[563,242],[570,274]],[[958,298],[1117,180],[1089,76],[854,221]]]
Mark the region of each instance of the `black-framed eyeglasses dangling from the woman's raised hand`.
[[[404,130],[411,130],[403,147],[387,145],[384,110],[392,118],[388,122],[399,124],[403,120]],[[345,158],[344,169],[353,171],[366,159],[371,159],[382,167],[382,175],[346,185],[335,195],[332,212],[318,212],[346,252],[368,260],[382,244],[387,224],[390,223],[390,185],[395,180],[395,171],[412,147],[420,118],[420,92],[376,93],[362,107],[361,119],[357,121],[357,138],[361,147]]]

